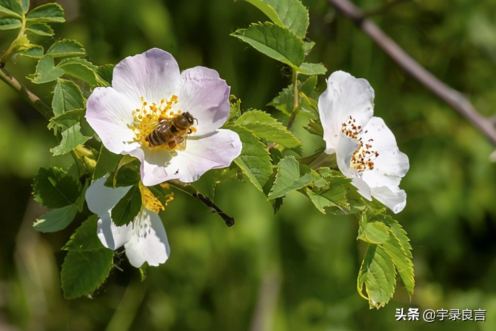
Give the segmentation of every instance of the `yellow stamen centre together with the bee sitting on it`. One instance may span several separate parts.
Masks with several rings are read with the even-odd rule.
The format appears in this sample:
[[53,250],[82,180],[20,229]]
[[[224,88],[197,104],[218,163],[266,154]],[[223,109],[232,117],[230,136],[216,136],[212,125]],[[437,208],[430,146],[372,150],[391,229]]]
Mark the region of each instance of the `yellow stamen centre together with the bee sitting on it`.
[[[134,121],[129,126],[136,135],[134,141],[150,148],[163,148],[168,151],[173,151],[179,143],[186,142],[187,133],[196,132],[196,128],[190,125],[187,130],[179,130],[177,123],[180,121],[176,119],[190,115],[183,114],[181,109],[173,110],[178,101],[177,95],[172,95],[170,100],[160,100],[160,104],[149,104],[141,97],[141,109],[133,110]],[[174,140],[174,143],[171,140]]]

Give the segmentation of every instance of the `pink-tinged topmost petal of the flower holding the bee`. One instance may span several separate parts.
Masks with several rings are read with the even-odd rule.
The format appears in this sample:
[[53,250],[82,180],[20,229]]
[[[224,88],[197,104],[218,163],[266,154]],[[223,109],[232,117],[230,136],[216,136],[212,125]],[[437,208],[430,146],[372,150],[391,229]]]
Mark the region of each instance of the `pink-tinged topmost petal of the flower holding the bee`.
[[174,57],[152,48],[119,62],[114,68],[112,87],[140,105],[141,97],[149,104],[159,104],[162,98],[169,99],[176,93],[179,77],[179,66]]

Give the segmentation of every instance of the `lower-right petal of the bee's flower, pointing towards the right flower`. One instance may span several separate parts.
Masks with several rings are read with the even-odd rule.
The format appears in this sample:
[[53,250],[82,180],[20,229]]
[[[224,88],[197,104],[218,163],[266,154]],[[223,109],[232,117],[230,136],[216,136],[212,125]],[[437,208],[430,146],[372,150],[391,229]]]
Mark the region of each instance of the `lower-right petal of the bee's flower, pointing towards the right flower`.
[[212,134],[187,140],[186,150],[178,151],[171,162],[179,173],[179,180],[190,183],[210,169],[228,167],[242,149],[238,133],[219,129]]

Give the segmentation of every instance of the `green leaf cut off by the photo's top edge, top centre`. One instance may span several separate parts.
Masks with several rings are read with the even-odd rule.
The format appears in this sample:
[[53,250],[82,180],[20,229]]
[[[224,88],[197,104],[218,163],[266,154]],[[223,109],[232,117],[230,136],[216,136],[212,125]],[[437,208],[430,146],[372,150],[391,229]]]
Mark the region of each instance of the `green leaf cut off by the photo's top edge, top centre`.
[[305,38],[309,27],[309,13],[300,0],[246,0],[260,9],[275,24],[286,27]]

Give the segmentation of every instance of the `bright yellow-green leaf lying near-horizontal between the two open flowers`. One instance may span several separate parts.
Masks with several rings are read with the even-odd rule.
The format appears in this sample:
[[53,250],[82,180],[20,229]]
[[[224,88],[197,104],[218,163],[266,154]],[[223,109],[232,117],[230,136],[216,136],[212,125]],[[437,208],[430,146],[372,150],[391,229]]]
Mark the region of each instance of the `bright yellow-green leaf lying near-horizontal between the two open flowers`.
[[275,118],[260,110],[245,112],[236,120],[234,125],[248,129],[261,139],[275,142],[288,148],[301,145],[300,139],[291,131],[277,122]]

